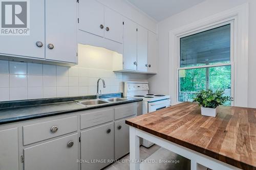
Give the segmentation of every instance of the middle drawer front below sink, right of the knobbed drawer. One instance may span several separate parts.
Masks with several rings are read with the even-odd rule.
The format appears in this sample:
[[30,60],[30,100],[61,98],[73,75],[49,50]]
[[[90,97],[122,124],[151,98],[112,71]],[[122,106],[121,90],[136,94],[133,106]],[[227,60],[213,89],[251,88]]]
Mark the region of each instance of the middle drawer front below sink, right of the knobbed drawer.
[[114,119],[114,109],[98,110],[81,114],[81,129],[104,124]]

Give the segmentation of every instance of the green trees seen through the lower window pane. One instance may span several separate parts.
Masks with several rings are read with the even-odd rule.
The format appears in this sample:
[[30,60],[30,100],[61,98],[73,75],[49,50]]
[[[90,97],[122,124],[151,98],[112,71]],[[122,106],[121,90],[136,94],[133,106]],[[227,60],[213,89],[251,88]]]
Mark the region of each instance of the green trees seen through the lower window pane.
[[[182,76],[181,76],[182,75]],[[206,79],[206,68],[194,68],[180,72],[179,78],[179,101],[193,101],[197,93],[202,89],[225,89],[225,95],[231,95],[231,66],[218,66],[208,68],[208,87]],[[230,106],[227,101],[224,105]]]

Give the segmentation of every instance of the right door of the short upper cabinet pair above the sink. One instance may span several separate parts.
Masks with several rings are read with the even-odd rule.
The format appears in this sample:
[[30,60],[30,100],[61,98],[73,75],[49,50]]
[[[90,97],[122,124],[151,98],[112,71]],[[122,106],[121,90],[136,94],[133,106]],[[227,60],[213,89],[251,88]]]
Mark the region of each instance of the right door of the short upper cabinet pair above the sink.
[[105,38],[123,43],[123,17],[105,7]]

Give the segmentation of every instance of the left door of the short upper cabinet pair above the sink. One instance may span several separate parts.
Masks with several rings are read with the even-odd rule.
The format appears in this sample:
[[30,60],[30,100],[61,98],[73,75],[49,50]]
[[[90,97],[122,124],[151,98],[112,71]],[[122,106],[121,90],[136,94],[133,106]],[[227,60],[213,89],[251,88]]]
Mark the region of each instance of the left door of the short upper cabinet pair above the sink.
[[104,6],[102,4],[95,0],[79,0],[79,30],[104,36]]

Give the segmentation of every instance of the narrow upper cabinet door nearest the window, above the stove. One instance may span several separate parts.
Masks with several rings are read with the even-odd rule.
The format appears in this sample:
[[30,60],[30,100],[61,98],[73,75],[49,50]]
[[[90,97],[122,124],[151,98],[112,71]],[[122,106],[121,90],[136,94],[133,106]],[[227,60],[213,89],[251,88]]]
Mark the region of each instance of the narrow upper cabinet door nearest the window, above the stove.
[[157,72],[157,35],[148,31],[148,72]]

